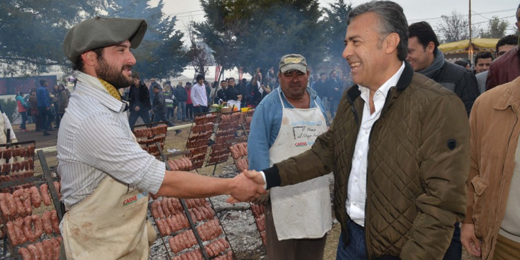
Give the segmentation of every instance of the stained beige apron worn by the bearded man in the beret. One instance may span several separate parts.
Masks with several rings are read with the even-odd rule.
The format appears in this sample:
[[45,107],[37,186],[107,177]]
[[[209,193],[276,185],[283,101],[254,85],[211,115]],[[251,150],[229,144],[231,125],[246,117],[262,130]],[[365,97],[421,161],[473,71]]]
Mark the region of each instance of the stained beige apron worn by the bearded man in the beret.
[[67,259],[147,260],[155,229],[146,221],[148,192],[108,175],[90,196],[63,216]]

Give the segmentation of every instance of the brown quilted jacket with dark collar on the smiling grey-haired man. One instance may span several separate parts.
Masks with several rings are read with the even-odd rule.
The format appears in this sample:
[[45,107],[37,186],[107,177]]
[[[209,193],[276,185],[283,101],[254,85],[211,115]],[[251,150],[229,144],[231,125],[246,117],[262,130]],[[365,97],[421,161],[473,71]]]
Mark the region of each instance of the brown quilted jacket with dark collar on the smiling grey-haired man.
[[[370,134],[367,250],[372,259],[442,259],[453,224],[466,212],[469,123],[458,96],[405,63]],[[276,164],[281,186],[333,171],[334,212],[343,231],[362,109],[358,87],[351,87],[343,94],[333,125],[311,150]]]

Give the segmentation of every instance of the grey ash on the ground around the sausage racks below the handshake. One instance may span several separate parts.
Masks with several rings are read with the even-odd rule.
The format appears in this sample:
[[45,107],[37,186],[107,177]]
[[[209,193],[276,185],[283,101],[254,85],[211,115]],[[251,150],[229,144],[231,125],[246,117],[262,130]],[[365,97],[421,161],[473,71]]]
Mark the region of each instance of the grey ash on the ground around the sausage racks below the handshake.
[[[234,164],[223,166],[222,173],[218,177],[230,178],[238,174]],[[225,200],[228,196],[215,196],[209,198],[211,204],[216,211],[216,216],[220,219],[220,223],[224,228],[224,232],[229,239],[236,259],[242,260],[265,260],[267,259],[266,248],[263,246],[258,232],[257,225],[254,221],[253,214],[249,203],[241,202],[231,205]],[[148,213],[148,219],[153,225],[155,222]],[[160,235],[157,234],[157,237]],[[168,257],[168,239],[171,236],[165,236],[157,239],[150,248],[150,260],[166,260]],[[163,242],[164,240],[164,242]],[[171,254],[173,256],[173,254]]]

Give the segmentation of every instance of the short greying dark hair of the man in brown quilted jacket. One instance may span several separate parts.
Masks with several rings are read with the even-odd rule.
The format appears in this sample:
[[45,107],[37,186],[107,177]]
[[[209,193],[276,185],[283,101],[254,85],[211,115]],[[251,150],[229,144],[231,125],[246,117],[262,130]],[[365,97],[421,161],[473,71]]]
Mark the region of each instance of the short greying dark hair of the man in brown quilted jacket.
[[397,58],[406,60],[408,55],[408,21],[403,8],[392,1],[370,1],[363,3],[349,12],[347,24],[366,12],[373,12],[379,18],[379,40],[383,41],[390,33],[397,33],[401,40],[397,44]]

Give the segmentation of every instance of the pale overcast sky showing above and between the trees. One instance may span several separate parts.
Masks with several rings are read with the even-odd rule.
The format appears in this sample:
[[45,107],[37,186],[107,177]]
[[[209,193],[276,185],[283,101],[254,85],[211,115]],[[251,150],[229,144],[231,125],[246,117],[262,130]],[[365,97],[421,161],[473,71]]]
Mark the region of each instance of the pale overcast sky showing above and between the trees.
[[[329,7],[329,3],[335,0],[319,0],[320,6]],[[357,6],[360,3],[365,3],[363,0],[345,1],[352,3],[352,6]],[[467,18],[469,12],[469,0],[397,0],[403,9],[408,24],[416,21],[428,21],[436,30],[437,24],[440,22],[441,15],[450,15],[452,10],[465,15]],[[471,23],[480,26],[480,28],[487,28],[487,21],[493,16],[498,16],[501,19],[506,19],[510,22],[509,30],[506,35],[514,33],[515,12],[517,10],[517,1],[512,0],[473,0],[471,1]],[[177,23],[175,28],[184,32],[189,21],[203,21],[204,11],[200,6],[198,0],[168,0],[164,1],[164,12],[166,15],[176,15]],[[515,27],[516,28],[516,27]]]

